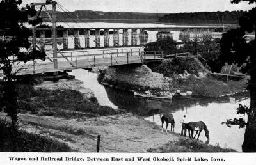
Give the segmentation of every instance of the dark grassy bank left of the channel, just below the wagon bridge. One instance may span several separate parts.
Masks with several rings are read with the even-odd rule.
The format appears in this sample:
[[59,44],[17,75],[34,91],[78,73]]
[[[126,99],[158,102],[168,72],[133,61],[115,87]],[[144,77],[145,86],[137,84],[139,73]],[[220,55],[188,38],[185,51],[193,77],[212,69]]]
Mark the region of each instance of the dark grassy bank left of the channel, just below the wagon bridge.
[[[27,90],[26,90],[27,89]],[[120,113],[109,106],[100,106],[97,98],[86,100],[76,90],[33,90],[23,86],[19,90],[20,112],[65,118],[81,116],[104,116]]]

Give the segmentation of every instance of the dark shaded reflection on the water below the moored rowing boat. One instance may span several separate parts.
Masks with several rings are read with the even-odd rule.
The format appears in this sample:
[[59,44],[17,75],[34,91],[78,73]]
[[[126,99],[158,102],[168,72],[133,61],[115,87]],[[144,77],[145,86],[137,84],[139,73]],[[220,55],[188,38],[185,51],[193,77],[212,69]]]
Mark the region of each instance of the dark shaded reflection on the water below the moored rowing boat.
[[158,113],[173,113],[175,111],[187,111],[189,107],[200,105],[209,106],[212,102],[229,102],[229,98],[175,98],[172,100],[156,100],[141,97],[134,97],[133,93],[120,91],[105,87],[108,99],[120,109],[126,109],[129,112],[141,116],[151,116]]

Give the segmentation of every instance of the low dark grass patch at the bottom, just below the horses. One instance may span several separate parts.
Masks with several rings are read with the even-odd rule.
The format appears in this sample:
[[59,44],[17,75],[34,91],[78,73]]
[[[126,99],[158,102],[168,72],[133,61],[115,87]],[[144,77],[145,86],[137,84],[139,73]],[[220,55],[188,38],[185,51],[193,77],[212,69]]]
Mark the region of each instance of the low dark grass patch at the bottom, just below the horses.
[[171,141],[159,148],[150,148],[148,152],[236,152],[236,150],[221,148],[220,146],[206,145],[202,141],[179,139]]

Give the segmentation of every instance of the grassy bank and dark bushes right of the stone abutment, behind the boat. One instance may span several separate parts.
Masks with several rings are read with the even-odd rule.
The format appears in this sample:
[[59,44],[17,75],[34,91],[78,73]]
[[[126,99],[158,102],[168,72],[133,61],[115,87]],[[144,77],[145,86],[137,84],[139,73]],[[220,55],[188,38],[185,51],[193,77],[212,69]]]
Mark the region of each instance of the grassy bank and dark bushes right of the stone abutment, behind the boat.
[[[221,81],[211,75],[198,79],[190,76],[188,79],[177,79],[175,74],[184,74],[186,70],[191,75],[198,76],[198,72],[204,72],[204,69],[193,58],[175,58],[172,61],[164,61],[161,64],[148,65],[153,72],[163,74],[163,76],[172,77],[170,84],[172,91],[181,90],[183,92],[192,91],[194,95],[205,97],[219,97],[243,91],[246,86],[246,80]],[[227,79],[227,78],[226,78]]]

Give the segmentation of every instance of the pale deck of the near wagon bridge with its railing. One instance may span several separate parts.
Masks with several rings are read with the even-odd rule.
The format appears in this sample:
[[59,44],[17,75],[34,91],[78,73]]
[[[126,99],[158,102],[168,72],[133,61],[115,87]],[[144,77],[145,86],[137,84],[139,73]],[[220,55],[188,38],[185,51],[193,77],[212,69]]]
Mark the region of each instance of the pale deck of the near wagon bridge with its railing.
[[[93,68],[93,67],[108,67],[115,65],[129,65],[134,63],[148,63],[163,61],[163,58],[157,56],[113,56],[108,58],[89,58],[89,59],[77,59],[72,58],[72,61],[58,61],[58,68],[53,68],[52,62],[43,62],[35,64],[24,64],[13,67],[13,71],[22,68],[17,72],[17,75],[26,74],[39,74],[46,72],[58,72],[65,70],[74,70],[79,68]],[[72,63],[72,64],[71,64]]]

